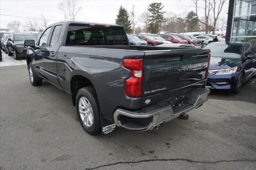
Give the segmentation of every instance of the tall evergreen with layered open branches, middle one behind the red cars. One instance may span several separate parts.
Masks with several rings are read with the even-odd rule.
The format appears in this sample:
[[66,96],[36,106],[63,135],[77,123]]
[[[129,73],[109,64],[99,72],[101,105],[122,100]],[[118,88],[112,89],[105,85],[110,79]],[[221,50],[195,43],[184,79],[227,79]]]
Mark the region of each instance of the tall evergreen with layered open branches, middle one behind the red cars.
[[151,13],[150,15],[150,21],[151,21],[151,26],[154,25],[154,31],[158,33],[159,27],[162,22],[166,21],[164,19],[164,13],[165,11],[161,11],[164,8],[163,4],[161,2],[154,2],[149,4],[148,6],[148,11]]

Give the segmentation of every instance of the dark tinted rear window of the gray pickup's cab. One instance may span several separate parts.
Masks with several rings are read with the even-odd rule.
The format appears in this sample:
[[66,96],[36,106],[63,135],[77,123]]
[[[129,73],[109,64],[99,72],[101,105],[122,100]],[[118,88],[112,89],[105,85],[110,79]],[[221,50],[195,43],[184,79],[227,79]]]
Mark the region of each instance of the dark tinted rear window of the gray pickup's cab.
[[123,27],[72,24],[69,25],[66,45],[128,45]]

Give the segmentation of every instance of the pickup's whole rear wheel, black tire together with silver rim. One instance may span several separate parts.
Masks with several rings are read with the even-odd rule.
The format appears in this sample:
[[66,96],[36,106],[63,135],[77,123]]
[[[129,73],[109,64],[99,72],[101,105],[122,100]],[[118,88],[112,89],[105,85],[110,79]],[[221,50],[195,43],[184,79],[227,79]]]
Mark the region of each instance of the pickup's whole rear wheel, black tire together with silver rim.
[[100,109],[92,87],[84,87],[78,91],[76,112],[87,133],[91,135],[100,133]]

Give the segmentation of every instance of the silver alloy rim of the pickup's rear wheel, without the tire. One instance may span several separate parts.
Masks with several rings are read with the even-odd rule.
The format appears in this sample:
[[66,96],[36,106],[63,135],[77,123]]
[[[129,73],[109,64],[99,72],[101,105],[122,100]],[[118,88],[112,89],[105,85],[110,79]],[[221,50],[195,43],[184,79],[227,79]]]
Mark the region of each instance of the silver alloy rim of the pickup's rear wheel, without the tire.
[[86,127],[91,127],[93,124],[93,111],[89,100],[86,97],[79,99],[79,113],[82,122]]

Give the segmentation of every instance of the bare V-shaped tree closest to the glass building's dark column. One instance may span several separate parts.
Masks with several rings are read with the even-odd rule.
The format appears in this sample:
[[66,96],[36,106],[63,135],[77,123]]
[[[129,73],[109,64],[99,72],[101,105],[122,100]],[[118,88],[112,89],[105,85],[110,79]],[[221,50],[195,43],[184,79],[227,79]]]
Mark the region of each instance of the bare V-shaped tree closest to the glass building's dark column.
[[213,10],[213,27],[212,27],[212,34],[215,34],[216,29],[216,23],[219,18],[220,12],[222,10],[223,4],[226,2],[226,0],[213,0],[210,5]]

